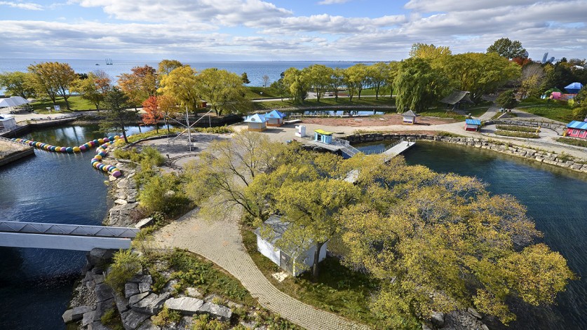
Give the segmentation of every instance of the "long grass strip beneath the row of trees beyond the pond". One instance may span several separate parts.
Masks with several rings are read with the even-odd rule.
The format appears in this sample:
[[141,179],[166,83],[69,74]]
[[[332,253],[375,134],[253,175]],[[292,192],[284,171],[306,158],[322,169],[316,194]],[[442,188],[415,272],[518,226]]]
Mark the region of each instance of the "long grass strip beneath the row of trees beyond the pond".
[[358,99],[353,97],[353,102],[349,101],[348,97],[339,97],[338,102],[334,98],[320,99],[320,102],[316,99],[306,99],[304,103],[298,104],[289,99],[281,101],[271,102],[255,102],[253,104],[255,110],[268,110],[268,109],[283,109],[283,108],[313,108],[318,106],[332,106],[332,109],[336,109],[337,106],[394,106],[396,104],[393,99],[375,99],[375,97],[365,97]]

